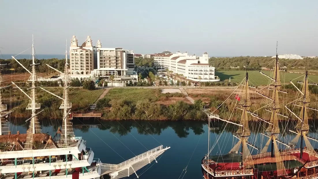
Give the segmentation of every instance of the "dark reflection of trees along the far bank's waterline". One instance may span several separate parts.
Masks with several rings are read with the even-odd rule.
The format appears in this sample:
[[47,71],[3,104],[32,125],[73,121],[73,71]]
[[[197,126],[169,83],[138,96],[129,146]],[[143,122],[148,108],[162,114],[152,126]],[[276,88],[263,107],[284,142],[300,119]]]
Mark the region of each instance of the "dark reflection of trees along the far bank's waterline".
[[[309,131],[310,133],[317,133],[318,120],[309,121]],[[61,120],[49,120],[42,119],[40,120],[41,126],[50,127],[53,130],[57,131],[58,127],[62,125]],[[292,134],[288,130],[294,130],[296,125],[296,120],[290,121],[280,121],[279,126],[281,130],[281,135],[286,136]],[[23,120],[17,120],[14,125],[28,127],[28,124]],[[100,130],[109,130],[113,134],[119,134],[124,136],[129,134],[132,129],[136,128],[138,134],[148,135],[148,134],[162,134],[162,131],[171,127],[174,130],[176,135],[180,138],[186,138],[190,134],[189,131],[192,130],[195,135],[200,135],[204,133],[204,126],[207,125],[207,121],[147,121],[147,120],[114,120],[114,121],[105,121],[105,120],[73,120],[74,129],[79,129],[83,133],[89,132],[89,128],[99,128]],[[266,126],[266,124],[265,124]],[[234,134],[238,130],[238,126],[227,124],[223,121],[212,121],[211,122],[211,133],[220,134],[222,132]],[[260,125],[259,121],[251,121],[249,127],[252,133],[265,133],[266,127],[264,124]]]

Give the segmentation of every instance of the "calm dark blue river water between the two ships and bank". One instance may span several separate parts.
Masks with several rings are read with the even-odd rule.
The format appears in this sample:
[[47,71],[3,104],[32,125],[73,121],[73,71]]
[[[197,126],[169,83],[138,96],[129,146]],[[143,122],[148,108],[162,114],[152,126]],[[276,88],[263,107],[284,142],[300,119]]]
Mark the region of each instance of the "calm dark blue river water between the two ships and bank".
[[[152,162],[150,165],[137,171],[141,179],[180,179],[184,175],[183,169],[187,167],[187,172],[183,178],[201,179],[202,173],[200,163],[208,150],[208,133],[205,122],[200,121],[99,121],[84,124],[80,121],[74,122],[74,133],[82,136],[87,141],[87,147],[94,151],[94,157],[100,158],[104,163],[120,163],[129,158],[139,155],[149,149],[159,145],[171,147],[163,155],[157,158],[158,163]],[[54,136],[57,127],[60,125],[55,120],[42,120],[42,132]],[[97,124],[93,128],[90,124]],[[285,125],[286,126],[286,125]],[[294,123],[289,123],[288,127],[282,131],[293,128]],[[312,137],[317,137],[315,123],[311,123]],[[222,122],[213,124],[211,127],[218,127],[218,130],[211,131],[212,154],[217,155],[227,153],[238,141],[232,135],[236,130],[234,126],[225,126]],[[268,138],[264,137],[259,131],[259,123],[252,123],[250,142],[256,141],[256,145],[263,147]],[[19,130],[20,133],[26,132],[26,124],[17,126],[11,125],[13,134]],[[285,134],[281,140],[290,141],[295,135]],[[218,145],[214,145],[218,140]],[[314,148],[318,148],[318,143],[312,142]],[[279,147],[282,147],[279,144]],[[251,149],[251,153],[256,154],[257,150]],[[192,155],[193,154],[193,155]],[[192,156],[192,158],[191,158]],[[136,178],[135,175],[127,177]]]

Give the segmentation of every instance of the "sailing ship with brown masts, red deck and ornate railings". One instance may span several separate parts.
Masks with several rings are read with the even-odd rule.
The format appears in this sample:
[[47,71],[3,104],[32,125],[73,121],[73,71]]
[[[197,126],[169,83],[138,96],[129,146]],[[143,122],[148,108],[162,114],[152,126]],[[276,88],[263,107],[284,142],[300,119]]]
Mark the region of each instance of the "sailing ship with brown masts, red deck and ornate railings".
[[[308,109],[317,111],[316,108],[309,107],[310,96],[308,86],[317,86],[317,83],[308,82],[308,72],[306,70],[305,75],[303,75],[303,81],[297,81],[297,83],[301,84],[301,89],[290,81],[299,93],[296,100],[288,103],[284,101],[284,104],[284,102],[280,102],[281,98],[279,97],[279,93],[287,94],[288,92],[282,89],[280,71],[278,55],[276,52],[273,75],[268,76],[260,71],[260,73],[270,79],[270,84],[265,88],[266,90],[269,90],[272,95],[271,97],[268,97],[257,92],[269,101],[264,107],[262,107],[264,109],[264,113],[270,113],[270,116],[267,115],[269,116],[268,119],[263,119],[261,115],[254,113],[255,111],[258,111],[258,109],[253,112],[250,111],[253,103],[250,100],[249,88],[255,88],[255,86],[249,85],[247,72],[245,79],[243,79],[239,85],[239,87],[243,88],[242,92],[240,91],[241,93],[236,95],[236,100],[239,100],[239,102],[235,105],[235,108],[239,109],[237,111],[241,111],[239,123],[231,122],[230,119],[222,119],[218,114],[205,110],[209,116],[209,131],[211,129],[211,121],[221,120],[225,123],[231,123],[238,127],[237,132],[233,135],[239,139],[236,145],[234,145],[226,154],[210,155],[212,148],[208,148],[208,154],[204,156],[201,162],[202,172],[205,179],[318,178],[318,172],[316,172],[318,168],[318,155],[308,140],[311,139],[313,141],[318,141],[317,139],[310,137],[308,134]],[[240,96],[240,99],[238,99],[238,96]],[[290,109],[288,106],[299,107],[300,114],[295,114],[293,111],[297,111],[297,109]],[[283,108],[286,109],[286,113],[288,114],[282,112]],[[279,118],[283,118],[282,120],[285,121],[297,121],[296,126],[294,127],[295,131],[288,131],[289,133],[297,134],[293,140],[289,142],[280,140],[280,135],[287,134],[287,132],[280,129]],[[249,121],[251,119],[256,120],[260,128],[264,126],[263,129],[260,129],[260,131],[264,130],[265,133],[260,132],[260,135],[267,137],[268,140],[262,149],[257,147],[255,139],[251,140],[254,142],[248,141],[248,138],[251,136],[249,127]],[[210,132],[208,138],[210,142]],[[257,137],[257,135],[254,136],[254,138],[262,140],[262,138]],[[218,140],[216,142],[218,142]],[[295,148],[299,142],[300,148]],[[210,147],[210,145],[208,146]],[[279,146],[283,147],[279,148]],[[257,154],[251,155],[251,149],[254,151],[256,150]]]

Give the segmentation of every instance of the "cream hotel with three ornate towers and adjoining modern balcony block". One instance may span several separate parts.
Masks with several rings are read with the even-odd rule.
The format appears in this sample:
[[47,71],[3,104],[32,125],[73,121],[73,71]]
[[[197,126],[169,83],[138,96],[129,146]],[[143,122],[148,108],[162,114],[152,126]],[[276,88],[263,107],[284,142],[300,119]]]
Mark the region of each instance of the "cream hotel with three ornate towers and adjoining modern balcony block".
[[113,86],[125,86],[126,83],[136,81],[131,76],[135,68],[134,51],[102,48],[100,40],[96,46],[92,44],[91,37],[87,36],[86,42],[78,46],[77,39],[73,36],[70,46],[71,78],[103,78],[110,84],[110,75],[114,75]]

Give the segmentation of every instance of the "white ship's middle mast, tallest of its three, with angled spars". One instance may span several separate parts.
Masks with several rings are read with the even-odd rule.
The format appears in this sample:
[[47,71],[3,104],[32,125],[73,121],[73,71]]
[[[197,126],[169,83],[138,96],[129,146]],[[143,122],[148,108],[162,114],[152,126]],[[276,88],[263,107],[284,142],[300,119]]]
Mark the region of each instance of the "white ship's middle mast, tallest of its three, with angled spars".
[[40,133],[41,132],[41,127],[40,127],[40,123],[38,121],[38,117],[37,114],[35,113],[35,111],[37,109],[40,109],[40,103],[36,103],[36,93],[35,93],[35,88],[37,88],[35,86],[35,82],[38,81],[38,76],[35,72],[35,65],[39,65],[36,64],[34,61],[34,43],[33,43],[33,35],[32,35],[32,70],[31,72],[24,67],[19,61],[17,61],[17,59],[15,59],[13,56],[12,58],[18,63],[20,64],[27,72],[29,72],[31,74],[30,78],[28,81],[31,81],[31,95],[27,95],[21,88],[19,88],[14,82],[12,82],[13,85],[17,86],[17,88],[19,90],[21,90],[30,100],[29,100],[29,104],[26,107],[26,109],[28,110],[32,110],[32,115],[31,115],[31,121],[30,121],[30,126],[27,130],[27,138],[26,138],[26,142],[25,142],[25,146],[24,146],[24,150],[31,150],[33,149],[33,135],[35,133]]

